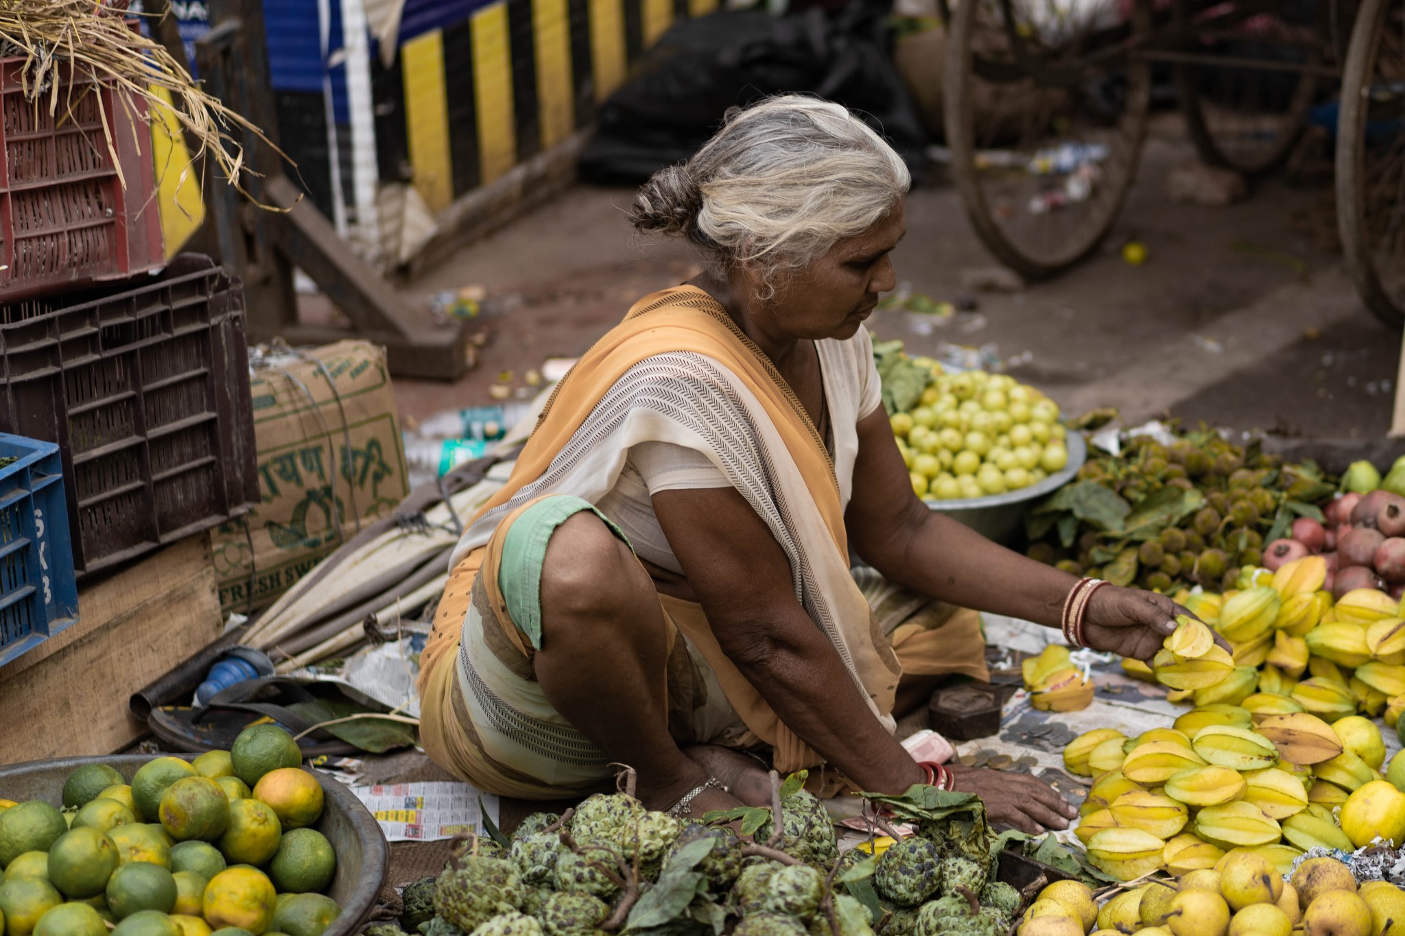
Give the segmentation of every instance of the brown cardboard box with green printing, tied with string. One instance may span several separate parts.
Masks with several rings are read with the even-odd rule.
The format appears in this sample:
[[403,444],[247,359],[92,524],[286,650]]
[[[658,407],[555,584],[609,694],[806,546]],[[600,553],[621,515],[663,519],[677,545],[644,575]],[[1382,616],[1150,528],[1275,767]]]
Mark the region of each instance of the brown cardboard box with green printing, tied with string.
[[211,532],[219,605],[273,603],[409,494],[385,349],[339,341],[254,366],[260,502]]

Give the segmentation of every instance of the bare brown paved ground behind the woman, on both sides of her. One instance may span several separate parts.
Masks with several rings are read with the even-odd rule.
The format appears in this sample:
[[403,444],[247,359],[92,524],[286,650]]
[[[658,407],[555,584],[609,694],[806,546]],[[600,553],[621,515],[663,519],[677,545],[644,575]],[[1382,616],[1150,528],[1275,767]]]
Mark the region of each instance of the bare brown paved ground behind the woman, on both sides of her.
[[[1130,421],[1169,413],[1287,435],[1384,435],[1399,340],[1375,326],[1339,257],[1302,223],[1324,192],[1270,178],[1229,208],[1172,203],[1165,175],[1190,160],[1179,119],[1158,119],[1121,219],[1085,264],[1014,293],[979,295],[976,313],[946,326],[881,313],[871,328],[915,352],[943,341],[991,345],[1068,411],[1116,406]],[[482,283],[517,306],[481,320],[482,363],[457,385],[396,380],[402,413],[486,403],[500,373],[521,386],[545,358],[580,354],[638,296],[691,275],[680,246],[634,234],[629,198],[572,189],[416,282],[420,295]],[[908,225],[896,264],[915,292],[955,297],[962,271],[992,265],[940,178],[912,192]],[[1130,239],[1146,246],[1145,265],[1121,260]]]

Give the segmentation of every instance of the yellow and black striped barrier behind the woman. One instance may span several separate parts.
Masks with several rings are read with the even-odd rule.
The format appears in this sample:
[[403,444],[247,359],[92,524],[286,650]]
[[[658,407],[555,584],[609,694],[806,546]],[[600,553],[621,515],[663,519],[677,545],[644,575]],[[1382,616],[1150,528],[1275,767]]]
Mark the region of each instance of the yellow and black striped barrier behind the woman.
[[679,17],[718,0],[499,0],[402,35],[372,65],[382,181],[413,181],[431,210],[587,123]]

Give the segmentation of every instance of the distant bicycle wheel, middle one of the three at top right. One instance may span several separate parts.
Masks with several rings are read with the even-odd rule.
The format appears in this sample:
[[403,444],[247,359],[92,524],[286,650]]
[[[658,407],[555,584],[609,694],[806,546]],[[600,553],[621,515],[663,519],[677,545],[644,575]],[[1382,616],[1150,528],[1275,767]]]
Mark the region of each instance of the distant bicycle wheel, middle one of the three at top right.
[[1288,154],[1307,126],[1328,45],[1319,6],[1176,0],[1182,52],[1197,59],[1176,65],[1176,97],[1200,159],[1256,174]]

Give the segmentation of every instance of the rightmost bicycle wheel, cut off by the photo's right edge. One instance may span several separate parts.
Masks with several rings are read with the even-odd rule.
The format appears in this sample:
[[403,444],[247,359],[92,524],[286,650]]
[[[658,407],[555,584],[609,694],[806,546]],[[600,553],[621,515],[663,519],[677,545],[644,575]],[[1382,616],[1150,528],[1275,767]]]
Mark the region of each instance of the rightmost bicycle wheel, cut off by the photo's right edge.
[[1336,220],[1361,302],[1405,324],[1405,0],[1363,0],[1342,74]]

